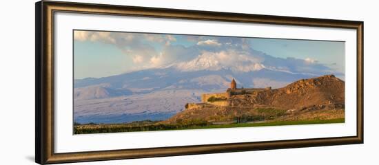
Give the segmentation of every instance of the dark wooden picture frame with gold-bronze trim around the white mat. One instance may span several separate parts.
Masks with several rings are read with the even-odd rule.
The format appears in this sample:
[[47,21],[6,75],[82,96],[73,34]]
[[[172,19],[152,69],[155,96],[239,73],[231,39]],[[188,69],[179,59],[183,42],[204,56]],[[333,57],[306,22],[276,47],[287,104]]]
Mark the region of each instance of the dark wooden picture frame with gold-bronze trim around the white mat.
[[[39,1],[36,11],[36,107],[35,162],[55,164],[141,157],[163,157],[205,153],[256,151],[278,148],[297,148],[363,143],[363,22],[300,17],[280,17],[258,14],[237,14],[164,8],[143,8],[121,5]],[[54,153],[54,14],[73,12],[83,14],[158,17],[167,19],[204,20],[238,23],[262,23],[307,27],[343,28],[356,30],[356,135],[303,140],[240,142],[193,146],[167,146],[110,151]],[[59,116],[58,116],[59,118]]]

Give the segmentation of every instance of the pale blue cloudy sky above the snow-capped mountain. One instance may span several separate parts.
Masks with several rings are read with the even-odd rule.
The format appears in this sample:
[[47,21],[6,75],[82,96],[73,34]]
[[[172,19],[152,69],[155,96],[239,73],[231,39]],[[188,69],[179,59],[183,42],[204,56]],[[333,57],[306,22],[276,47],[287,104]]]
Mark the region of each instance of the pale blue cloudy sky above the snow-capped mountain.
[[75,79],[167,67],[202,55],[215,56],[224,65],[249,60],[289,72],[345,74],[341,41],[74,31]]

